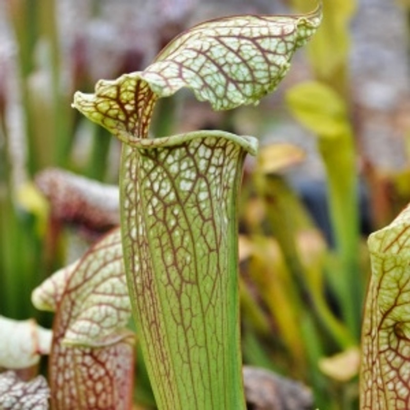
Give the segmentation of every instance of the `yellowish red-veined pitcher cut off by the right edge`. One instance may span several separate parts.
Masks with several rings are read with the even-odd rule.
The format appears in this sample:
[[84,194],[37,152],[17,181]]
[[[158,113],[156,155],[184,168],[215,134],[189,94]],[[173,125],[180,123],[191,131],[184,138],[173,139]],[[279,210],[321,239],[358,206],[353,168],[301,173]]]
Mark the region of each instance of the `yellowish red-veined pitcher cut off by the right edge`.
[[368,240],[361,410],[410,408],[410,207]]

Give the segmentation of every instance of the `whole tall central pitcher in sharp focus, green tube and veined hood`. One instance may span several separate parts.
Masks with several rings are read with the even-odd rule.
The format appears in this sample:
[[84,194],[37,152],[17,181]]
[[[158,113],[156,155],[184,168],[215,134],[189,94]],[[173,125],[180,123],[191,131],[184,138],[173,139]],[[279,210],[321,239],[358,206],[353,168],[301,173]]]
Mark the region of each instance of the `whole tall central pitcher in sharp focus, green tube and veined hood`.
[[257,104],[317,29],[296,16],[234,16],[177,36],[144,71],[100,80],[73,106],[122,141],[121,237],[132,311],[158,408],[244,409],[237,198],[257,139],[155,138],[156,101],[189,88],[215,110]]

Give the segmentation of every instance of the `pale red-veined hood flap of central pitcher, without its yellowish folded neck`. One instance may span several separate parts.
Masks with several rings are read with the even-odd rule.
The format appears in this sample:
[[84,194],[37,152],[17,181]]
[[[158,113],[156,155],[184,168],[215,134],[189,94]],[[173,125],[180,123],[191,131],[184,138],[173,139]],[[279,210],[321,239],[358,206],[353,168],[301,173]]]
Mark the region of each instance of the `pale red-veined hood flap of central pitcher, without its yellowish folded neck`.
[[141,77],[160,96],[191,88],[215,110],[254,104],[275,90],[320,20],[321,8],[306,15],[211,20],[176,37]]

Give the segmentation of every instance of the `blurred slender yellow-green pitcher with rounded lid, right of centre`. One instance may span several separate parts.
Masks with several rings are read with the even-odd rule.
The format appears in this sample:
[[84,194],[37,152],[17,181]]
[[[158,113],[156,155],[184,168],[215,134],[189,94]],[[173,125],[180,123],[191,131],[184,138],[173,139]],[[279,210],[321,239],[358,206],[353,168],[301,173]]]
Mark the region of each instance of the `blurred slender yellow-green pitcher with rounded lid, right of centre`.
[[332,88],[307,81],[287,94],[294,115],[318,135],[327,178],[336,263],[330,278],[348,329],[359,340],[363,283],[359,275],[356,150],[345,101]]

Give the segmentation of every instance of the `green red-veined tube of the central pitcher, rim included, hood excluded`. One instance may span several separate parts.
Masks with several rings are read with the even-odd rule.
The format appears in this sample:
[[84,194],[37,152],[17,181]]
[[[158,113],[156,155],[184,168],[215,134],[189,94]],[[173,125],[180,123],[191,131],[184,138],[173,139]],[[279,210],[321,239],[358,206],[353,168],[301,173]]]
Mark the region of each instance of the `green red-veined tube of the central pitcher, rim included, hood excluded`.
[[240,357],[224,360],[240,351],[236,197],[256,140],[198,132],[123,150],[124,254],[157,403],[243,408]]

